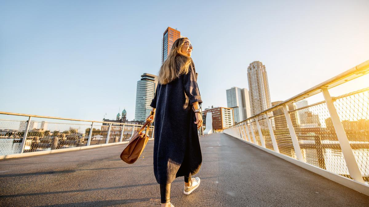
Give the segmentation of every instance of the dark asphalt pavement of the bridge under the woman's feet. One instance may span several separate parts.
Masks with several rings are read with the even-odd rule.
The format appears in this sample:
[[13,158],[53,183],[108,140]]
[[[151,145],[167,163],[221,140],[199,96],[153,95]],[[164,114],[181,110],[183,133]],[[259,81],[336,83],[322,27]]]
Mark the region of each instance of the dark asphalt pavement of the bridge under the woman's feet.
[[[153,144],[134,164],[123,145],[0,160],[0,206],[159,206]],[[224,133],[200,137],[200,186],[174,206],[369,206],[369,197]]]

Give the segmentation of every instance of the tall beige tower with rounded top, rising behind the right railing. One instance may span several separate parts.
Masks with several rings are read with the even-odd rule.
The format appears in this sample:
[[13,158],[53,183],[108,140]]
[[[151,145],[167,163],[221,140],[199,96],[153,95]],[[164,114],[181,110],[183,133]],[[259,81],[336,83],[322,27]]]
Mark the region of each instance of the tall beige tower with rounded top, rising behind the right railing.
[[260,61],[250,63],[247,68],[247,77],[249,82],[251,116],[255,116],[272,107],[265,65]]

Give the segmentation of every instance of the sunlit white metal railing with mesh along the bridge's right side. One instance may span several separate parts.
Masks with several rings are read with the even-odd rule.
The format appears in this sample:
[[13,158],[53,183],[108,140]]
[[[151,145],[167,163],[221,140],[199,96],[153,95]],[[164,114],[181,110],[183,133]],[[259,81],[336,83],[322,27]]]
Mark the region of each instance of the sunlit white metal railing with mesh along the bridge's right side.
[[[369,78],[367,88],[330,95],[331,88],[344,87],[368,73],[369,60],[223,132],[272,154],[368,185]],[[320,93],[324,101],[296,107],[296,102]]]

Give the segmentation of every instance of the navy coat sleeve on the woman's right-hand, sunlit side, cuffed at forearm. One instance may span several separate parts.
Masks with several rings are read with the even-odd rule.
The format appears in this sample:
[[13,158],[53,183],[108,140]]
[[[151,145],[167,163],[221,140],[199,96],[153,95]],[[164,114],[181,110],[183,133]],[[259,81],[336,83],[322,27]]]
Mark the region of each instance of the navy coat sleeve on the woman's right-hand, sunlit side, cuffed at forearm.
[[183,74],[183,86],[184,91],[189,97],[189,102],[192,105],[194,102],[202,103],[200,96],[199,87],[197,85],[197,76],[196,71],[193,65],[190,65],[189,71],[187,74]]

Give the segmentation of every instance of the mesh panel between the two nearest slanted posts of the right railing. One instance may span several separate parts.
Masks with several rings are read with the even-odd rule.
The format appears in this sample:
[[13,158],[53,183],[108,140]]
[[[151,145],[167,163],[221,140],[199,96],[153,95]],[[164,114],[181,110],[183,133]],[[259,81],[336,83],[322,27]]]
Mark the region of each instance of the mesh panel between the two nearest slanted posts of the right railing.
[[320,102],[289,113],[304,161],[349,177],[326,103]]

